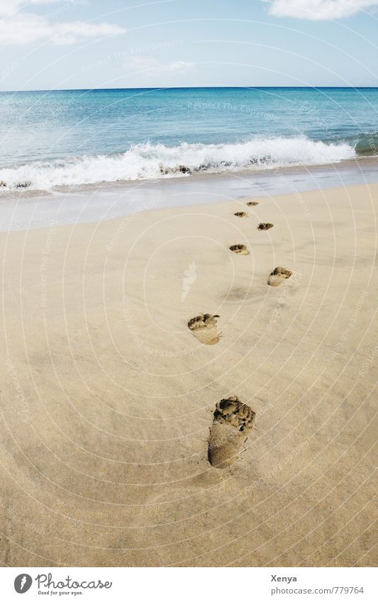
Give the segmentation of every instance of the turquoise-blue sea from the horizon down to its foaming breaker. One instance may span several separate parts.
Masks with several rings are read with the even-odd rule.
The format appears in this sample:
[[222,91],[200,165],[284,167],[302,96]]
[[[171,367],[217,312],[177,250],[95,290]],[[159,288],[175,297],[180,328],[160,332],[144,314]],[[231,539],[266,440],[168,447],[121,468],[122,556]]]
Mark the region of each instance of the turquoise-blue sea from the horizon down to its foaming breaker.
[[378,89],[0,93],[0,191],[327,165],[377,153]]

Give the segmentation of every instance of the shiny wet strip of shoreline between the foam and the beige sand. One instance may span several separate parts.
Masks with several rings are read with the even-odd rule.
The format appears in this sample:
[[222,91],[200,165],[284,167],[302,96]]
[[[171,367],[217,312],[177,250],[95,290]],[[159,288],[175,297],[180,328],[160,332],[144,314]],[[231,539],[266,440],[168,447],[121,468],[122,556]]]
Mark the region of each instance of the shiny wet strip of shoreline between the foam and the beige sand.
[[377,157],[334,165],[254,172],[194,174],[137,182],[72,186],[68,191],[0,195],[0,231],[48,228],[51,223],[91,223],[160,208],[198,206],[231,199],[378,182]]

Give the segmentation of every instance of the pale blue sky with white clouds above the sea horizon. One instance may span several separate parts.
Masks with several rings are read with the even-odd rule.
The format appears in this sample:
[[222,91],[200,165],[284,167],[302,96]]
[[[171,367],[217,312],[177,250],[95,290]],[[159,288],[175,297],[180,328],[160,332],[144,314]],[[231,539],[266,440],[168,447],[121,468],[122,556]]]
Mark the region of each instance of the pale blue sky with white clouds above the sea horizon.
[[0,90],[378,86],[378,0],[0,0]]

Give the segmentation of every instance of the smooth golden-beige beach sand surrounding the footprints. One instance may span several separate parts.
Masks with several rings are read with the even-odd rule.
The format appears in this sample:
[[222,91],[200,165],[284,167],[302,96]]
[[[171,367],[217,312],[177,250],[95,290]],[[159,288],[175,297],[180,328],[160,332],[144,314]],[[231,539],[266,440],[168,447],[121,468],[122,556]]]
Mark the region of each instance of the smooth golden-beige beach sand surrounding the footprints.
[[[377,562],[377,198],[3,233],[2,564]],[[268,286],[276,267],[292,275]],[[220,316],[217,344],[189,330],[201,313]],[[229,396],[255,424],[217,469],[209,428]]]

